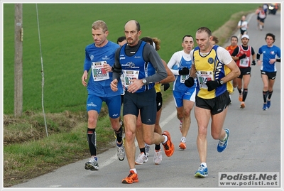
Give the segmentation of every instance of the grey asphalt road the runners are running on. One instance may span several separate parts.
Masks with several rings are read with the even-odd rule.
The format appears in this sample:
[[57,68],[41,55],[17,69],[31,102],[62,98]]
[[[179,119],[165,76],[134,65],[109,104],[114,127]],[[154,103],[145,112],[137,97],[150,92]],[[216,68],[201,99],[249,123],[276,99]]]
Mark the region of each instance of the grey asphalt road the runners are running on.
[[[266,44],[266,33],[274,33],[275,45],[280,47],[280,12],[276,15],[268,15],[263,31],[256,29],[256,15],[252,15],[249,21],[249,45],[258,52],[261,45]],[[236,33],[239,35],[239,31]],[[282,39],[283,40],[283,39]],[[240,44],[240,40],[239,40]],[[246,99],[246,108],[239,108],[238,93],[231,95],[232,103],[226,116],[224,128],[230,130],[229,145],[223,153],[216,150],[217,142],[213,140],[208,131],[207,141],[207,166],[209,175],[207,178],[195,178],[194,174],[200,165],[196,146],[197,123],[192,112],[192,123],[187,136],[187,149],[178,150],[180,142],[180,130],[176,117],[175,104],[170,102],[163,107],[160,124],[163,130],[171,133],[175,144],[175,153],[168,158],[163,153],[163,163],[153,164],[153,146],[151,147],[148,163],[136,165],[139,182],[132,185],[122,184],[122,178],[129,174],[127,160],[119,161],[116,158],[116,149],[111,148],[98,155],[99,171],[84,170],[85,160],[66,165],[53,173],[42,175],[28,182],[24,182],[9,190],[21,188],[39,188],[45,190],[74,189],[75,190],[129,190],[133,188],[147,187],[158,190],[210,190],[218,188],[219,172],[282,172],[281,165],[281,131],[280,108],[283,107],[283,99],[280,102],[281,89],[280,62],[277,62],[278,75],[275,80],[271,108],[263,111],[263,97],[260,66],[252,66],[249,94]],[[283,72],[282,72],[283,74]],[[283,92],[282,92],[283,93]],[[283,151],[283,150],[282,150]],[[138,155],[138,148],[136,155]],[[281,185],[283,188],[283,185]],[[229,187],[229,189],[239,189]],[[244,187],[243,187],[244,188]],[[263,187],[262,187],[263,188]],[[278,187],[279,189],[280,187]],[[219,187],[221,190],[221,187]],[[269,190],[266,187],[265,190]],[[36,189],[38,190],[38,189]],[[151,189],[152,190],[152,189]],[[226,188],[228,190],[228,187]]]

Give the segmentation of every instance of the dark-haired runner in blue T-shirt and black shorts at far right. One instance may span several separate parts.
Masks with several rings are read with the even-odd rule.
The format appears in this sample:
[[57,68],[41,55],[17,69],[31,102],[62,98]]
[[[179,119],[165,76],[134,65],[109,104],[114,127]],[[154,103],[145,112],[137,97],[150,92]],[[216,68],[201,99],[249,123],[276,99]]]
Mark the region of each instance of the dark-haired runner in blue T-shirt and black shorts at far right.
[[[266,45],[258,49],[256,60],[258,65],[261,65],[261,78],[263,82],[263,111],[271,107],[271,96],[273,93],[273,85],[276,78],[275,62],[280,62],[281,50],[273,45],[275,42],[275,35],[273,33],[266,34]],[[263,55],[263,60],[260,60]]]

